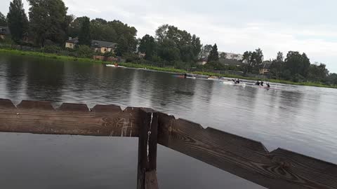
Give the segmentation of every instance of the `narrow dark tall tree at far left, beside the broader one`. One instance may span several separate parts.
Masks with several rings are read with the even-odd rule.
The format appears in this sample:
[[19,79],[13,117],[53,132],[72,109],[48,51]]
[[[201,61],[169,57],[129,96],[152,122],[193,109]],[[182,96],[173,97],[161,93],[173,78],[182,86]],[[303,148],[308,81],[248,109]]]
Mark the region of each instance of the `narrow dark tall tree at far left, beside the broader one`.
[[21,0],[13,0],[10,3],[7,20],[13,41],[20,42],[28,29],[28,19]]

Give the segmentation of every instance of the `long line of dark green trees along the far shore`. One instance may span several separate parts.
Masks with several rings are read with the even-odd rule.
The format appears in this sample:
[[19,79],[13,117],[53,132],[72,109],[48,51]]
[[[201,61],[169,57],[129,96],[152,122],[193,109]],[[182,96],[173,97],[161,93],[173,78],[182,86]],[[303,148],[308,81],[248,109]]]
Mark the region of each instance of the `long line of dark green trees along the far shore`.
[[[146,34],[137,38],[137,29],[119,20],[107,21],[102,18],[90,19],[86,16],[75,18],[67,13],[68,8],[62,0],[27,0],[29,11],[25,13],[21,0],[10,3],[8,14],[0,13],[0,25],[7,25],[15,43],[25,44],[24,36],[29,36],[33,44],[48,49],[48,45],[64,47],[68,37],[78,37],[80,55],[91,56],[91,40],[117,43],[115,55],[124,57],[129,62],[174,66],[178,69],[192,67],[207,70],[236,70],[259,73],[263,69],[263,51],[258,48],[243,53],[243,66],[225,66],[221,59],[226,59],[224,52],[218,52],[218,46],[202,45],[195,34],[173,25],[161,25],[155,35]],[[51,52],[53,52],[51,50]],[[138,53],[144,53],[140,58]],[[199,59],[208,59],[207,64],[198,65]],[[270,61],[270,77],[282,80],[312,81],[337,85],[336,73],[329,73],[325,64],[311,64],[305,53],[289,51],[286,57],[277,53]]]

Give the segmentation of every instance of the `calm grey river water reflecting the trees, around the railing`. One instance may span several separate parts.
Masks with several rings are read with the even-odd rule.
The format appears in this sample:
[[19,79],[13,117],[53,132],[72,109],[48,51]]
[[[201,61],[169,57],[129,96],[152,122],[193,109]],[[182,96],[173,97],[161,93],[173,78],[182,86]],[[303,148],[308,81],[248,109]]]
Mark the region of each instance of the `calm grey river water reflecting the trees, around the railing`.
[[[0,54],[0,98],[146,106],[337,164],[337,90],[279,90]],[[176,90],[194,92],[187,96]],[[137,139],[0,134],[1,188],[136,188]],[[159,146],[160,188],[262,188]]]

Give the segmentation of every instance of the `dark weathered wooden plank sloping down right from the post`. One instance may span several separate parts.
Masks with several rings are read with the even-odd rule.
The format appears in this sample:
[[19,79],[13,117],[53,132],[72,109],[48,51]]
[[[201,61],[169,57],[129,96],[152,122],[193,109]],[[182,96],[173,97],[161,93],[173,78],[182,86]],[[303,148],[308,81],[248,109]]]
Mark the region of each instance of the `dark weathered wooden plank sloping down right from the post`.
[[337,188],[336,165],[289,151],[269,153],[258,141],[164,113],[159,113],[158,143],[266,188]]

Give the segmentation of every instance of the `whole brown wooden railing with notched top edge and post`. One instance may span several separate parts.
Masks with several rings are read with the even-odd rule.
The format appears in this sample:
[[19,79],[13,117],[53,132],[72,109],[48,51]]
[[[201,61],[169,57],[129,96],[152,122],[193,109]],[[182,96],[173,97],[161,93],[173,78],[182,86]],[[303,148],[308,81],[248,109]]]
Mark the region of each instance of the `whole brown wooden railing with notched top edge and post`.
[[0,132],[138,137],[137,188],[158,188],[157,144],[266,188],[337,188],[337,166],[143,108],[0,99]]

